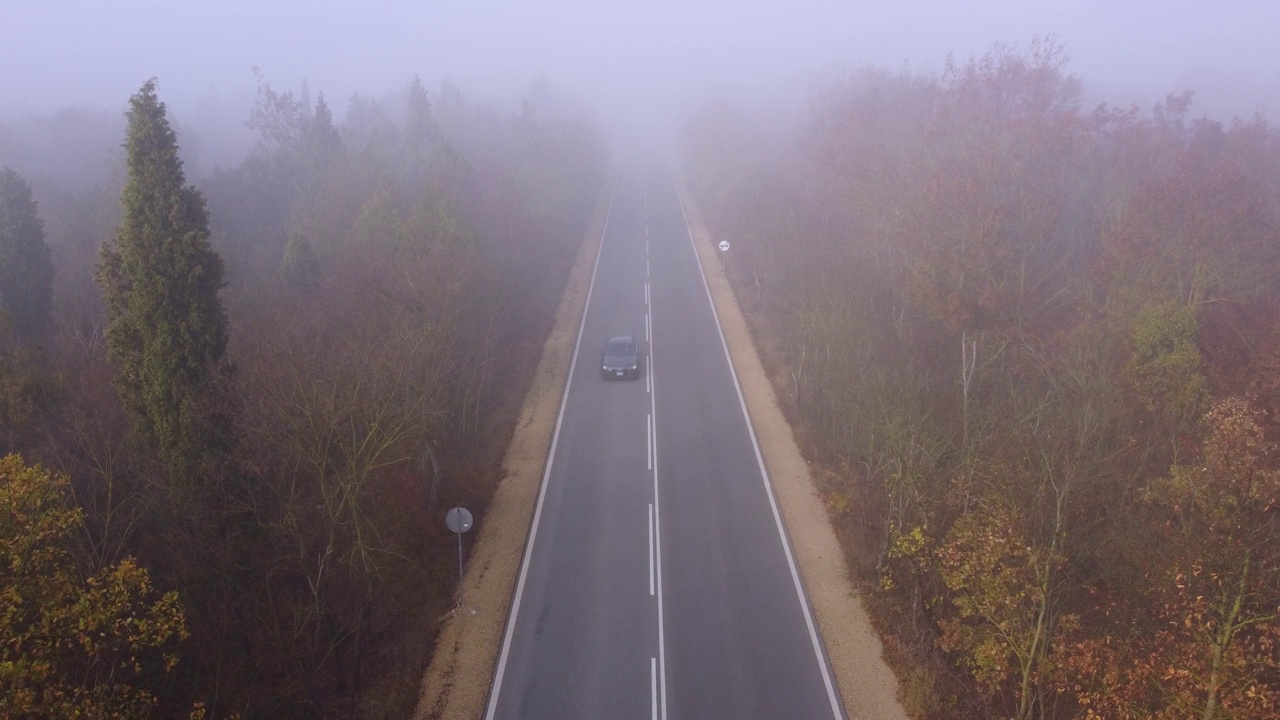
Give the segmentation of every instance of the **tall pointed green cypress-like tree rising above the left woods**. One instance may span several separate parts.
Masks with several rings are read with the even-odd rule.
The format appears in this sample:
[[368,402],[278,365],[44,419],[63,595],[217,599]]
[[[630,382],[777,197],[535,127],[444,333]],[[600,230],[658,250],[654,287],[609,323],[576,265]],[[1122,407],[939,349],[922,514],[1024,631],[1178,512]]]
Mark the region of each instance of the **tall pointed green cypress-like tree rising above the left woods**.
[[136,428],[177,478],[211,447],[210,397],[227,351],[218,300],[223,261],[209,246],[205,199],[186,184],[155,78],[129,99],[124,219],[104,243],[108,357]]

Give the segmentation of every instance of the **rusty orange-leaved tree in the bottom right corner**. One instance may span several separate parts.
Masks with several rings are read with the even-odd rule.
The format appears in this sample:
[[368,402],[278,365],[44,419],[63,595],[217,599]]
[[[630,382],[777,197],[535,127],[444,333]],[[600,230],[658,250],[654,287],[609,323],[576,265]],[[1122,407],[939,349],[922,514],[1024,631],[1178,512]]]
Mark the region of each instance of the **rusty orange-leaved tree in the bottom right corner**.
[[1280,470],[1262,420],[1245,400],[1215,404],[1199,459],[1148,488],[1144,592],[1103,593],[1111,628],[1065,653],[1085,717],[1280,716]]

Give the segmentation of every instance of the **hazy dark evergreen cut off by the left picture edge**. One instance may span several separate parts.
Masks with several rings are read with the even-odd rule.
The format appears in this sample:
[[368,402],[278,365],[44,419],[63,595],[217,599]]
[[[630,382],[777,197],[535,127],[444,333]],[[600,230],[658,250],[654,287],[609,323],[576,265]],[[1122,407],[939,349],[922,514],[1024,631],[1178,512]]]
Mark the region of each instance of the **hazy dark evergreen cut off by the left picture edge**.
[[0,169],[0,323],[31,337],[49,327],[54,264],[31,186]]

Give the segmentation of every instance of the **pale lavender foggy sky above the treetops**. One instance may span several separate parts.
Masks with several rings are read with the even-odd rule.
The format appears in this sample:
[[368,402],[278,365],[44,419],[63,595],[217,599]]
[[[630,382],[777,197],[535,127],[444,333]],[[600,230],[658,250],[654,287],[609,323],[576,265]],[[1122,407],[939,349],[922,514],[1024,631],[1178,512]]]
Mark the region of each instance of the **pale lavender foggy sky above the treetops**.
[[151,76],[174,106],[239,95],[251,65],[339,99],[415,72],[463,90],[545,72],[603,105],[838,65],[934,70],[947,53],[1046,33],[1087,86],[1165,92],[1204,67],[1280,92],[1275,0],[0,0],[0,118],[123,108]]

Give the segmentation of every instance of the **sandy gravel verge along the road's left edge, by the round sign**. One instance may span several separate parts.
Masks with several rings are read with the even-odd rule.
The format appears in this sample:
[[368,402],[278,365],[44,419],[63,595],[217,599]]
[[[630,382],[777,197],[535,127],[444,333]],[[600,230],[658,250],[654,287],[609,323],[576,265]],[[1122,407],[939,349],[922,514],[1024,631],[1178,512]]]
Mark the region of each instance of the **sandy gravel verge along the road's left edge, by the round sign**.
[[462,579],[466,603],[454,606],[440,626],[413,720],[472,720],[484,714],[561,396],[568,382],[591,269],[604,236],[611,190],[605,187],[600,193],[570,272],[568,287],[556,309],[556,324],[543,345],[516,432],[503,455],[502,482],[479,518],[480,538]]

